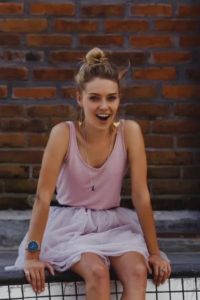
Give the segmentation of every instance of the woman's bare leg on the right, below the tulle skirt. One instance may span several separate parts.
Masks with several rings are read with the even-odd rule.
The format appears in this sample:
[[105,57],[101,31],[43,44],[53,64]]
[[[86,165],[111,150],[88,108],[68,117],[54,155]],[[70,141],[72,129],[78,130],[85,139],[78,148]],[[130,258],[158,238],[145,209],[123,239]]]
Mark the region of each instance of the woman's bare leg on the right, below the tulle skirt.
[[143,255],[130,251],[109,256],[109,260],[123,286],[121,300],[145,300],[147,269]]

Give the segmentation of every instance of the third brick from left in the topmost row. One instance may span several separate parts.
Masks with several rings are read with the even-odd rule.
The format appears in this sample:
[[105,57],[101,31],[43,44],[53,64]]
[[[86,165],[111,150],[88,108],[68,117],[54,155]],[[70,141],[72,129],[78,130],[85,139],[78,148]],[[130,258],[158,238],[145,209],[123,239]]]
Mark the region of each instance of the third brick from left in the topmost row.
[[124,4],[96,4],[96,5],[81,5],[82,16],[102,17],[107,15],[124,15]]

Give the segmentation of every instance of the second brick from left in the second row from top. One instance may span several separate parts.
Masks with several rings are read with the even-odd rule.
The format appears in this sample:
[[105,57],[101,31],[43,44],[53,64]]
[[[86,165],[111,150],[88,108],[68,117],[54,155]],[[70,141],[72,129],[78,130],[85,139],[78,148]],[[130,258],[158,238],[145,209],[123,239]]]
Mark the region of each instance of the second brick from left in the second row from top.
[[97,22],[92,20],[54,20],[54,31],[96,31],[97,28]]

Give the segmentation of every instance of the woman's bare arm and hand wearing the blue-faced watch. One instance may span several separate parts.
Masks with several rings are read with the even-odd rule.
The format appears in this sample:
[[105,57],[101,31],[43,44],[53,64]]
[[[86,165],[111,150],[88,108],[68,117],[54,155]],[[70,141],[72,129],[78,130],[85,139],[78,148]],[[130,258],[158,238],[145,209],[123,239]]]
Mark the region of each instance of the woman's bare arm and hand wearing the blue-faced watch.
[[[41,245],[42,236],[48,218],[50,201],[55,190],[61,162],[68,149],[68,142],[69,124],[62,122],[55,125],[50,132],[42,157],[36,196],[28,229],[27,242],[30,240],[36,240]],[[38,282],[36,284],[36,277],[38,277],[36,276],[36,273],[38,274],[39,265],[38,258],[39,250],[34,252],[31,252],[28,249],[25,250],[23,269],[24,271],[30,272],[30,274],[26,273],[25,275],[28,282],[32,283],[34,289],[36,286],[40,287],[40,278],[37,280]],[[43,277],[44,272],[42,271],[42,280],[44,281]],[[42,285],[44,285],[43,281]]]

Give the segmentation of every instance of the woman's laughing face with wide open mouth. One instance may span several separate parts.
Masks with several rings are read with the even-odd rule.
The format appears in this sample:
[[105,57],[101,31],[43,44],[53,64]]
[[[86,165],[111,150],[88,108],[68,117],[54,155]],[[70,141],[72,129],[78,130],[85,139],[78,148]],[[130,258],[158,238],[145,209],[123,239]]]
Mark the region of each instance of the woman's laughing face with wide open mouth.
[[82,97],[79,93],[76,96],[84,109],[86,123],[98,128],[111,125],[120,100],[117,82],[94,78],[85,84]]

